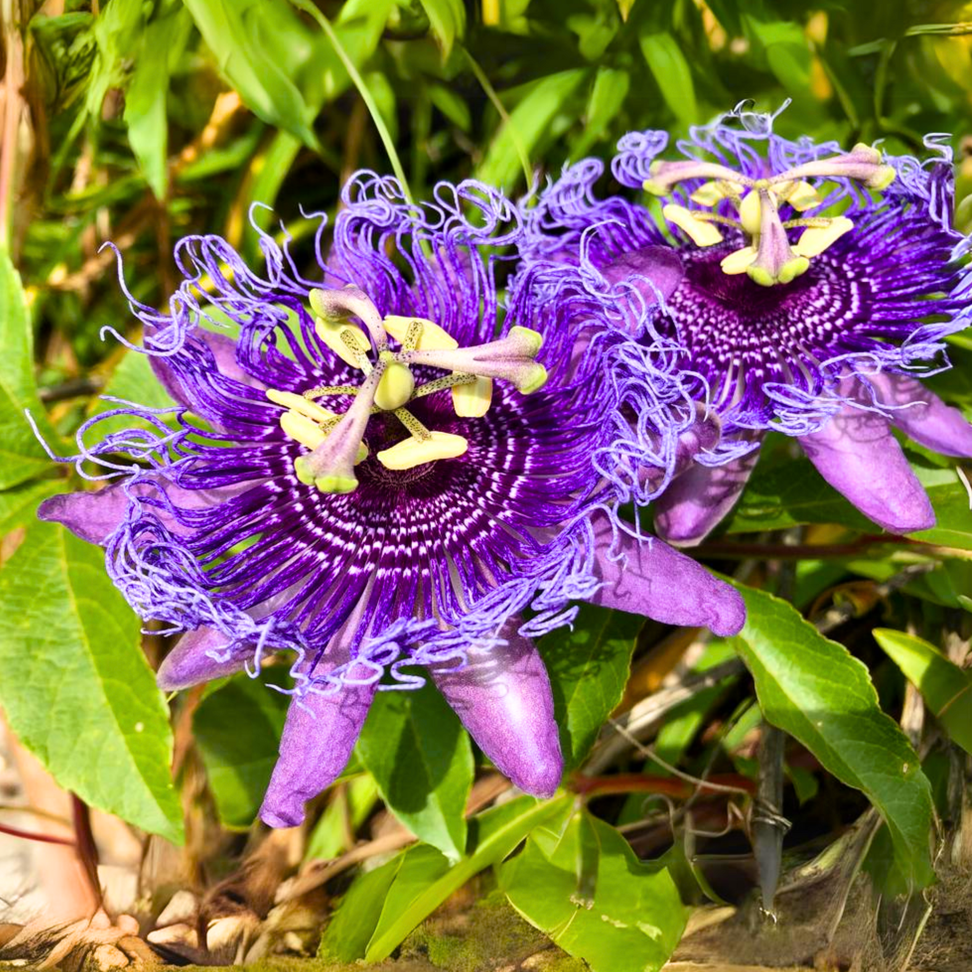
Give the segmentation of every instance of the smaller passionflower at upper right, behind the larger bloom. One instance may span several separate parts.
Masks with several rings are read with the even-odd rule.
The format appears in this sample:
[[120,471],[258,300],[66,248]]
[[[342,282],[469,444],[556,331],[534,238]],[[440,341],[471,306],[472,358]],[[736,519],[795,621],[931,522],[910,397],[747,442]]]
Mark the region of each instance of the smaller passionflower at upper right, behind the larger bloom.
[[[665,430],[649,419],[633,434],[628,459],[643,466],[639,483],[629,463],[628,485],[655,500],[661,537],[706,537],[769,431],[796,437],[886,530],[926,529],[934,512],[891,427],[972,456],[972,427],[920,381],[948,366],[945,338],[972,313],[952,156],[941,136],[926,140],[925,162],[788,141],[774,118],[737,109],[671,153],[664,131],[624,136],[612,172],[642,201],[598,198],[598,160],[567,168],[529,211],[524,266],[574,265],[589,287],[653,309],[642,343],[676,356],[685,397],[710,424],[708,437],[692,434],[685,413],[664,476],[644,470],[664,458]],[[630,328],[630,315],[610,316]]]

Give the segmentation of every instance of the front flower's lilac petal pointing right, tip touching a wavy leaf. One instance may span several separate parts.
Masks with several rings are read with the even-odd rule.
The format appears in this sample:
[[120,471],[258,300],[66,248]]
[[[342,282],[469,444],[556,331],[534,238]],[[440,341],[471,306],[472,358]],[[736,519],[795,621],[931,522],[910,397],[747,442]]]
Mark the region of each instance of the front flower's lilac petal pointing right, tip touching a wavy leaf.
[[593,525],[594,573],[602,581],[594,604],[665,624],[705,626],[723,637],[743,627],[746,606],[739,593],[690,557],[657,538],[614,531],[603,513],[594,516]]

